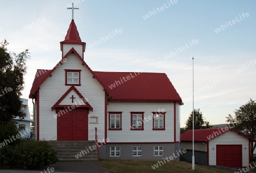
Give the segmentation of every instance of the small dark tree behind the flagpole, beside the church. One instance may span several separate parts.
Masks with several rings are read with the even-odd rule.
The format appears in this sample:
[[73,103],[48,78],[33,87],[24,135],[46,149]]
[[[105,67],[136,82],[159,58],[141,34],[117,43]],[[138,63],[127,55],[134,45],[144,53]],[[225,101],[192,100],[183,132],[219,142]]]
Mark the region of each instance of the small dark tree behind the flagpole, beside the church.
[[[194,129],[209,129],[212,128],[208,121],[205,121],[203,113],[200,109],[194,109]],[[193,129],[193,112],[191,112],[188,120],[186,121],[186,130]]]

